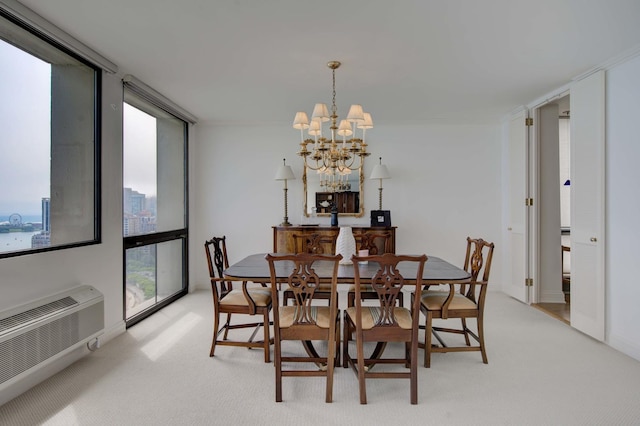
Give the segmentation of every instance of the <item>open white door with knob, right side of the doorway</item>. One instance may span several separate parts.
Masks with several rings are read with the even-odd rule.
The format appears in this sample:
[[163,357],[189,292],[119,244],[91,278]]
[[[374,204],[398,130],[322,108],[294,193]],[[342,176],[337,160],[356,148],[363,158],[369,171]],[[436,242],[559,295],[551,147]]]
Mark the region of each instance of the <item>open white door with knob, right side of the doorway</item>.
[[604,340],[604,71],[571,85],[571,325]]

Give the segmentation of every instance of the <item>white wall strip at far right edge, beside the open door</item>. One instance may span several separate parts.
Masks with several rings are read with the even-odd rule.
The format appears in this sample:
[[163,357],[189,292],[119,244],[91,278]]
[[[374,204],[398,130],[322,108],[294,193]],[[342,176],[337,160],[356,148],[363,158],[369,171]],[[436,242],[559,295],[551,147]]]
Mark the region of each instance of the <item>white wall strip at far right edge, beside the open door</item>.
[[640,56],[606,75],[606,334],[640,360]]

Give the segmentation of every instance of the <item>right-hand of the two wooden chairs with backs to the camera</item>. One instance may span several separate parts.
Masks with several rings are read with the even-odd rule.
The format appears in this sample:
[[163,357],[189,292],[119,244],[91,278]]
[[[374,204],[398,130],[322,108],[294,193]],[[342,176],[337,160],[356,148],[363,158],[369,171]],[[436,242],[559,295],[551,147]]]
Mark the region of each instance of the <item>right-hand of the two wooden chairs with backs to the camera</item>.
[[[419,301],[422,288],[422,273],[427,256],[407,256],[385,253],[377,256],[354,256],[351,258],[354,268],[355,306],[348,307],[343,320],[343,366],[351,367],[358,376],[360,387],[360,403],[367,403],[366,379],[409,379],[411,404],[418,403],[418,326]],[[361,281],[364,265],[360,262],[375,262],[377,271],[371,278],[371,288],[376,292],[378,303],[375,306],[363,306],[361,297]],[[402,267],[413,265],[414,268]],[[371,267],[367,265],[366,267]],[[404,285],[415,285],[417,299],[412,310],[396,306],[396,300]],[[356,356],[349,353],[351,336],[355,334]],[[364,345],[367,342],[377,342],[376,349],[371,355],[365,356]],[[383,358],[384,347],[387,342],[404,343],[404,356]],[[399,364],[409,367],[409,371],[384,368],[378,371],[378,364]],[[375,366],[375,369],[374,369]]]

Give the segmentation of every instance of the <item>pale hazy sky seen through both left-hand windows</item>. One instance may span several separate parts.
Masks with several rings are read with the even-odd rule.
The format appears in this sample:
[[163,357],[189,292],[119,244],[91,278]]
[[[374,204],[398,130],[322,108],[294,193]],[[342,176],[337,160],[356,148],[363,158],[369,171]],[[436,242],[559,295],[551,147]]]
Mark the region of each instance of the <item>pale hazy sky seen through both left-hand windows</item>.
[[[155,195],[155,118],[124,113],[124,186]],[[0,216],[39,215],[50,196],[51,66],[2,40],[0,129]]]

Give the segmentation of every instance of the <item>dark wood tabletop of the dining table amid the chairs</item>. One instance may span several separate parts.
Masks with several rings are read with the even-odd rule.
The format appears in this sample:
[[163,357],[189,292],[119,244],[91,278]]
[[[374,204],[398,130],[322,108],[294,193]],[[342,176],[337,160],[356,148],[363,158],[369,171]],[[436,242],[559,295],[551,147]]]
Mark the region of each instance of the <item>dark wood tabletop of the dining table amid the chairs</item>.
[[[237,263],[231,265],[224,271],[225,277],[229,279],[246,280],[254,282],[267,282],[271,279],[269,273],[269,265],[265,259],[266,253],[252,254],[245,257]],[[277,256],[277,254],[275,254]],[[286,278],[291,273],[293,267],[292,262],[278,262],[276,266],[276,275]],[[400,263],[398,269],[404,277],[416,275],[415,263]],[[332,273],[331,262],[316,262],[314,265],[316,273],[323,277],[330,277]],[[378,270],[376,263],[370,262],[366,265],[360,265],[360,279],[366,281],[371,278]],[[470,280],[471,276],[464,269],[455,266],[446,260],[435,256],[428,256],[424,265],[422,274],[423,284],[446,284],[446,283],[464,283]],[[340,284],[353,283],[353,265],[340,265],[338,268],[338,282]]]

